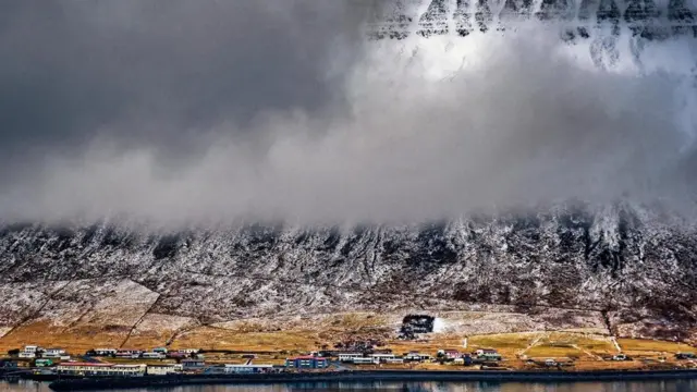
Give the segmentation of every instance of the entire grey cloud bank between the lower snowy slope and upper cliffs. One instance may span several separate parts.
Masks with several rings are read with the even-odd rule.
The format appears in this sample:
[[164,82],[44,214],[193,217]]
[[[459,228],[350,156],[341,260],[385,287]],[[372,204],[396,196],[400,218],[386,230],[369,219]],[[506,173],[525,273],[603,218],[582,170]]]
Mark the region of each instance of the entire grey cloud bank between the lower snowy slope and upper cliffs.
[[0,50],[22,54],[0,65],[16,93],[0,217],[401,221],[693,197],[688,38],[600,69],[539,22],[366,41],[368,2],[192,4],[0,21]]

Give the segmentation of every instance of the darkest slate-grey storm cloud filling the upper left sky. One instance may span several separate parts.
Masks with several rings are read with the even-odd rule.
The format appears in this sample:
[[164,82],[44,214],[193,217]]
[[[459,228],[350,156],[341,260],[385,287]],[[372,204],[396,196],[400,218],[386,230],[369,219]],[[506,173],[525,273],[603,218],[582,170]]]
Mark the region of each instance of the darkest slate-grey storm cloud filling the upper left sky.
[[[73,152],[106,134],[179,154],[221,121],[334,102],[332,50],[363,8],[334,1],[3,1],[0,158]],[[351,56],[345,57],[351,60]],[[348,64],[345,64],[348,65]],[[20,162],[22,161],[22,162]],[[29,161],[30,162],[30,161]]]

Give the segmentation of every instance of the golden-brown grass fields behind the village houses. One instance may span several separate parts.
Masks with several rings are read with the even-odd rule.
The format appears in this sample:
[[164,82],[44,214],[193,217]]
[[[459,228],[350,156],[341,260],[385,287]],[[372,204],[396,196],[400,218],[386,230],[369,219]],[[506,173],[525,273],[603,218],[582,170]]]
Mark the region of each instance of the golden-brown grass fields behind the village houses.
[[[538,326],[524,315],[501,323],[497,320],[504,316],[496,313],[449,311],[442,316],[439,331],[419,334],[413,340],[399,336],[403,314],[344,313],[240,319],[212,324],[200,324],[185,317],[148,314],[135,327],[98,327],[81,322],[57,326],[41,320],[22,323],[5,333],[0,338],[0,352],[28,344],[63,347],[74,354],[95,347],[148,350],[167,346],[170,350],[209,351],[206,359],[211,363],[243,363],[241,355],[246,352],[258,353],[261,363],[279,365],[288,356],[334,348],[339,343],[371,340],[377,342],[378,348],[389,348],[396,355],[419,352],[435,356],[441,348],[460,352],[496,348],[504,357],[502,366],[512,368],[526,368],[529,366],[527,359],[566,358],[573,359],[576,369],[616,369],[646,366],[645,358],[672,358],[678,352],[696,351],[687,344],[653,340],[617,339],[615,344],[612,336],[596,326],[594,317],[589,317],[588,328],[521,331]],[[484,328],[485,321],[492,324]],[[584,327],[583,320],[579,323]],[[481,333],[499,330],[504,332]],[[637,360],[609,360],[620,352]],[[408,367],[432,366],[439,365]]]

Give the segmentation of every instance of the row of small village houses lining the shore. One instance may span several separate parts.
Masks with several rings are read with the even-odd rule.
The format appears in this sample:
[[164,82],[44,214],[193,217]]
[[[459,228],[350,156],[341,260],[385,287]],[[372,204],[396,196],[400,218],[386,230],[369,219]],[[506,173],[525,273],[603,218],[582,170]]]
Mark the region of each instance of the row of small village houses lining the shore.
[[[522,358],[516,358],[522,359]],[[573,368],[573,358],[523,358],[528,370],[563,370]],[[609,362],[628,362],[624,354],[606,358]],[[697,355],[676,353],[672,357],[644,359],[647,364],[664,364],[664,368],[697,367]],[[228,363],[230,362],[230,363]],[[54,377],[143,377],[168,375],[232,375],[337,371],[347,369],[451,369],[451,370],[513,370],[512,363],[496,348],[472,352],[441,348],[436,353],[393,353],[391,350],[317,351],[304,355],[278,356],[255,353],[206,352],[199,348],[170,351],[154,347],[148,351],[129,348],[94,348],[86,353],[69,353],[60,347],[45,348],[27,345],[10,351],[0,359],[5,375],[24,372]]]

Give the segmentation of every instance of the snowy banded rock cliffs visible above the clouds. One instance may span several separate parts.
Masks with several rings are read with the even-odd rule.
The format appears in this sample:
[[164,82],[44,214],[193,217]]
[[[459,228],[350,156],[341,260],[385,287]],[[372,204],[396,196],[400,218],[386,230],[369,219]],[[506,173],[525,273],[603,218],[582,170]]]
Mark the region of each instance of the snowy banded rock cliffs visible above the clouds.
[[685,0],[396,0],[370,28],[375,39],[403,39],[515,28],[527,20],[554,21],[567,28],[566,39],[589,38],[592,30],[665,39],[697,36],[695,11]]

